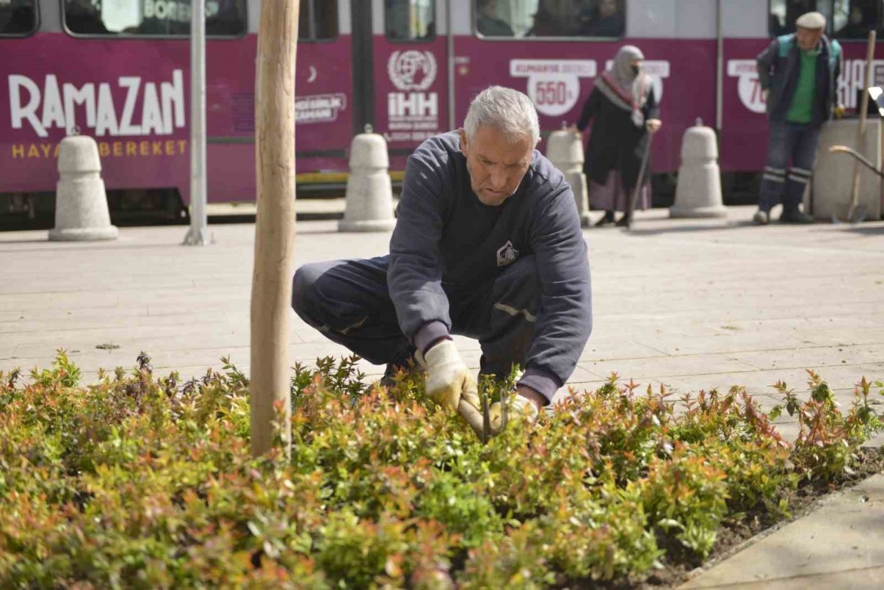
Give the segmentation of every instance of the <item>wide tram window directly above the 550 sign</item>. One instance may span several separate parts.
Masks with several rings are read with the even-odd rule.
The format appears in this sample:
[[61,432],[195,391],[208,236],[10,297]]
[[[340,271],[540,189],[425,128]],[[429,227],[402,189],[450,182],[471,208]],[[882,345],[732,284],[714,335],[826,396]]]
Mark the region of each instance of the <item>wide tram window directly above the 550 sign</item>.
[[484,37],[621,37],[623,0],[476,0]]

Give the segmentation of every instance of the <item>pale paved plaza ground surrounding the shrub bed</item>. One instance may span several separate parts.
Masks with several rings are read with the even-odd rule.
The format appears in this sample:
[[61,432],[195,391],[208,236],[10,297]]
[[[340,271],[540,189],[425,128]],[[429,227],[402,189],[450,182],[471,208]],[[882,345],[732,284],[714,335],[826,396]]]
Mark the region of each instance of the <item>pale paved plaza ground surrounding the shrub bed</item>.
[[[598,387],[617,372],[680,393],[743,385],[769,408],[778,379],[806,392],[805,369],[845,405],[858,379],[884,379],[884,222],[758,227],[753,212],[673,220],[655,210],[639,212],[629,234],[586,230],[594,327],[568,388]],[[184,378],[219,369],[222,356],[248,372],[255,226],[211,226],[209,247],[179,245],[186,230],[121,228],[117,241],[88,243],[0,234],[0,371],[45,367],[66,349],[86,382],[100,367],[133,366],[141,350],[156,372]],[[336,230],[335,221],[299,222],[296,263],[387,251],[389,234]],[[477,343],[455,340],[477,368]],[[293,318],[293,363],[345,354]],[[377,377],[383,367],[364,371]],[[780,427],[796,433],[788,416]],[[691,586],[880,587],[881,477]]]

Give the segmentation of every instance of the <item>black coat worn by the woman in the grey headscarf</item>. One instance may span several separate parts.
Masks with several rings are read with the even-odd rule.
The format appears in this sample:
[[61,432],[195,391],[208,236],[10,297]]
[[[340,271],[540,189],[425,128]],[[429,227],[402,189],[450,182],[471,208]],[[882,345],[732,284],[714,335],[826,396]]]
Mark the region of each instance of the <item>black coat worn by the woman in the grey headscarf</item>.
[[[654,88],[648,92],[648,99],[642,109],[644,120],[659,119],[659,104],[654,96]],[[577,121],[577,128],[583,131],[592,121],[590,142],[586,147],[586,159],[583,172],[586,178],[605,184],[608,173],[612,170],[620,172],[623,188],[630,190],[636,187],[639,168],[642,167],[644,150],[648,146],[648,132],[644,126],[636,127],[632,122],[632,113],[621,109],[602,94],[598,88],[592,88],[590,97],[583,103],[583,112]],[[650,160],[644,171],[644,180],[650,176]],[[644,184],[643,180],[643,184]]]

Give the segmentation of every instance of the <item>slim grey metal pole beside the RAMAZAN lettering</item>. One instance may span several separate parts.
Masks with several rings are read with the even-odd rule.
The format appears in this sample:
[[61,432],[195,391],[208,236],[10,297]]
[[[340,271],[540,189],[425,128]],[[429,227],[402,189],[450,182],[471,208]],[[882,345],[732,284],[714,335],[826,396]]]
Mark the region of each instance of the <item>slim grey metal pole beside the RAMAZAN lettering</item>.
[[206,4],[192,0],[190,12],[190,229],[187,246],[208,246],[206,215]]

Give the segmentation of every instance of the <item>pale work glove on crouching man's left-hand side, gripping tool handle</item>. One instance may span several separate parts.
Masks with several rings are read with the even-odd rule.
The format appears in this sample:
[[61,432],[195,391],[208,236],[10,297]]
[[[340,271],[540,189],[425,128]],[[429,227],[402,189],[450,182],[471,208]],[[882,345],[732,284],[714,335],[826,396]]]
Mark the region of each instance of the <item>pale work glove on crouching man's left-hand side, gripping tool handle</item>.
[[434,402],[448,410],[458,411],[461,396],[465,396],[465,400],[476,408],[481,422],[476,379],[469,374],[469,369],[453,341],[438,341],[425,355],[418,350],[415,357],[427,372],[424,389]]

